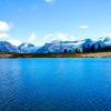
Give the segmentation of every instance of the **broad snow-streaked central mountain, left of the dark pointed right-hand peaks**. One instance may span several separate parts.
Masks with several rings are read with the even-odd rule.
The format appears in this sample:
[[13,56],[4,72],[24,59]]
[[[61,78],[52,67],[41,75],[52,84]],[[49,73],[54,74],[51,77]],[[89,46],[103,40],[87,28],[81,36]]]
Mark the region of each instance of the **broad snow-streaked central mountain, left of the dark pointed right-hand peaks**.
[[39,53],[62,53],[62,52],[75,52],[75,48],[81,47],[81,41],[52,41],[41,47]]

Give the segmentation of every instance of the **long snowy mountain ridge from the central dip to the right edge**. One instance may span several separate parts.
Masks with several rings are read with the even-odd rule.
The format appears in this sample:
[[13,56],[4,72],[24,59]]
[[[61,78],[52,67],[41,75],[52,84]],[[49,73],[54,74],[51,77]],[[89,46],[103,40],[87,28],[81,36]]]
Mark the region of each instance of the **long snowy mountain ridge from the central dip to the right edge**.
[[84,39],[80,41],[52,41],[38,49],[37,53],[63,53],[63,52],[83,52],[83,49],[98,50],[100,48],[111,47],[111,38],[103,37],[97,40]]

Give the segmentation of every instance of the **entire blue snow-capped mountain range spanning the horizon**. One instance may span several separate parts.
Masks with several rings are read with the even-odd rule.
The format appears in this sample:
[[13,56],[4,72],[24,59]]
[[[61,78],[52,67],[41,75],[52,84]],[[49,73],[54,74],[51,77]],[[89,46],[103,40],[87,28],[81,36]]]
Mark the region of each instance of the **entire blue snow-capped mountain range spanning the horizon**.
[[19,53],[63,53],[63,52],[83,52],[85,50],[100,48],[111,48],[111,38],[103,37],[97,40],[84,39],[79,41],[58,41],[38,48],[31,43],[22,43],[19,47],[12,46],[10,42],[0,41],[0,51],[19,52]]

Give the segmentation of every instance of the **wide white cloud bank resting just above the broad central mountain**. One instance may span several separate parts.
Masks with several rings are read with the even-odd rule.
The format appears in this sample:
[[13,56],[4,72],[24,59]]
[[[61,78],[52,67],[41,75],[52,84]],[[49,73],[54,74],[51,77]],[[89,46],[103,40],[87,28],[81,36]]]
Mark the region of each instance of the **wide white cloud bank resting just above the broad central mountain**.
[[73,41],[74,37],[70,36],[68,33],[48,33],[47,36],[44,36],[46,42],[51,42],[54,40],[59,40],[59,41]]

